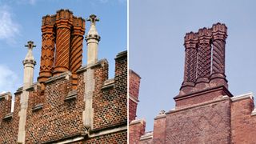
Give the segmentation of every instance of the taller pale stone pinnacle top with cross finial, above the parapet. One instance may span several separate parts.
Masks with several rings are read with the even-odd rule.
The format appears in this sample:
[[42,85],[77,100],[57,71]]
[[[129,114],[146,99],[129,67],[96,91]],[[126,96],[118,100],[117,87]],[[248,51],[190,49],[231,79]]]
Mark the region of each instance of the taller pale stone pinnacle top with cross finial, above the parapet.
[[86,35],[87,42],[87,64],[94,64],[98,61],[98,42],[101,37],[98,35],[98,31],[96,30],[96,22],[99,21],[96,15],[91,14],[90,18],[87,19],[90,21],[90,30]]

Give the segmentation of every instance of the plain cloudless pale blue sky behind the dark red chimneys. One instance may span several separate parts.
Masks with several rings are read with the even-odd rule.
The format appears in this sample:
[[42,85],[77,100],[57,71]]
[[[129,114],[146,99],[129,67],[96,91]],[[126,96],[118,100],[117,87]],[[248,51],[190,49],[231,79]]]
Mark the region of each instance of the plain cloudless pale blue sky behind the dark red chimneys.
[[223,22],[226,76],[232,94],[256,94],[256,1],[130,0],[130,68],[141,77],[138,118],[153,130],[160,110],[174,108],[182,84],[184,36]]

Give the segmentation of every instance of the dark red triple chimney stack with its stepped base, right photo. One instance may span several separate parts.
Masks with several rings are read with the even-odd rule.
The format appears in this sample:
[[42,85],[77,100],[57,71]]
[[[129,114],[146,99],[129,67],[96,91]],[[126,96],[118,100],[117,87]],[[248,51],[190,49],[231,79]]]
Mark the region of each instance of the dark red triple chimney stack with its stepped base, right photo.
[[225,75],[226,33],[225,24],[217,23],[186,34],[184,80],[174,98],[176,106],[206,102],[225,94],[232,96]]

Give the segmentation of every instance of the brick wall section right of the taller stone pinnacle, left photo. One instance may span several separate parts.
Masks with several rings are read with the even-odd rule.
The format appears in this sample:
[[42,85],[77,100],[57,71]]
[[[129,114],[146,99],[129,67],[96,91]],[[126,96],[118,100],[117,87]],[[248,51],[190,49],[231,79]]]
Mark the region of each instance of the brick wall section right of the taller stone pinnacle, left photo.
[[94,129],[127,122],[127,52],[115,58],[114,86],[102,90],[106,81],[106,67],[95,70]]

